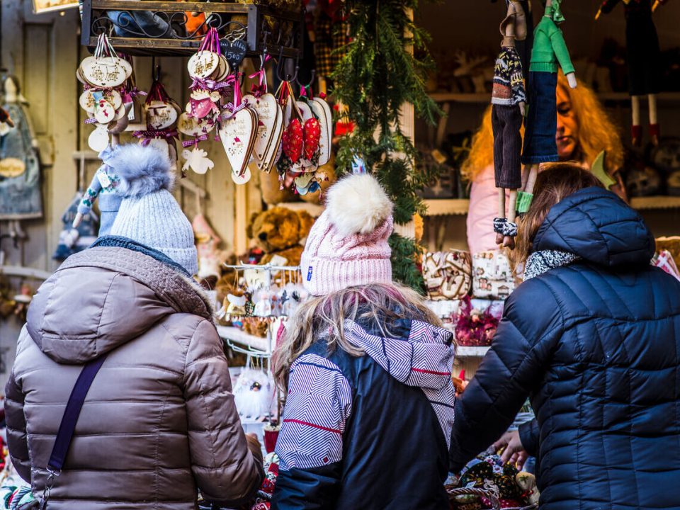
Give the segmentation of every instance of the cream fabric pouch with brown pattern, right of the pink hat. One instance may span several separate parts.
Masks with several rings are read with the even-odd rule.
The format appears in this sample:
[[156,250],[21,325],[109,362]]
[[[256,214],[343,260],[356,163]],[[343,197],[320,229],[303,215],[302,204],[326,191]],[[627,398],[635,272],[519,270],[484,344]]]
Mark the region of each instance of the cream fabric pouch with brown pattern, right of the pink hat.
[[423,276],[430,300],[456,300],[472,288],[472,259],[462,250],[435,251],[425,254]]

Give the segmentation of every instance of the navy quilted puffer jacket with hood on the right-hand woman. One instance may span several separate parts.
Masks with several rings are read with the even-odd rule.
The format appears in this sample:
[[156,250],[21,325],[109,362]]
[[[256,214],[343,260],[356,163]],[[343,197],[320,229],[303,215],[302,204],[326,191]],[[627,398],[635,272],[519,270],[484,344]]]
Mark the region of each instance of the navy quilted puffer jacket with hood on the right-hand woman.
[[680,283],[613,193],[555,205],[534,249],[581,257],[509,297],[492,348],[455,406],[451,469],[507,429],[538,456],[541,510],[680,509]]

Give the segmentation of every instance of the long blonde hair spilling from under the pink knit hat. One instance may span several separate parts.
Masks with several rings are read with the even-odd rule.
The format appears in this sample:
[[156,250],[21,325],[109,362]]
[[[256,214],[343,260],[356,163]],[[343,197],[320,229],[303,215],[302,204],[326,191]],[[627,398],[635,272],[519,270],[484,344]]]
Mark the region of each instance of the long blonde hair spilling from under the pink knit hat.
[[341,348],[350,356],[363,356],[361,348],[345,337],[344,322],[369,320],[385,337],[397,336],[392,331],[396,319],[414,319],[441,326],[441,321],[412,288],[397,283],[373,283],[350,287],[302,303],[288,319],[283,342],[273,354],[274,378],[288,393],[290,365],[322,336],[328,353]]

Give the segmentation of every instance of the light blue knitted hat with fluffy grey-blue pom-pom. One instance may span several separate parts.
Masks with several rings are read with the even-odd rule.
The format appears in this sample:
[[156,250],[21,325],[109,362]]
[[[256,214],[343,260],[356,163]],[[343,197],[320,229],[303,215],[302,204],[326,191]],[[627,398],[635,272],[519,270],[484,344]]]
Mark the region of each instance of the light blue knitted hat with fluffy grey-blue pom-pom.
[[120,177],[117,190],[123,195],[110,234],[162,251],[189,274],[198,273],[191,223],[169,191],[174,176],[168,155],[152,145],[129,144],[108,164]]

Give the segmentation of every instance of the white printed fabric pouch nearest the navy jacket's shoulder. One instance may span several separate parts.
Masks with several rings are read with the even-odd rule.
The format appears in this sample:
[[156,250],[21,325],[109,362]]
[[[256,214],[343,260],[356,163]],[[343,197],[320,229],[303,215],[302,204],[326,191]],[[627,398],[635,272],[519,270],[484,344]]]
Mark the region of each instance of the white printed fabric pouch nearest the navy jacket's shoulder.
[[504,300],[515,290],[508,257],[500,251],[472,255],[472,295]]

